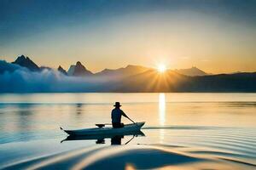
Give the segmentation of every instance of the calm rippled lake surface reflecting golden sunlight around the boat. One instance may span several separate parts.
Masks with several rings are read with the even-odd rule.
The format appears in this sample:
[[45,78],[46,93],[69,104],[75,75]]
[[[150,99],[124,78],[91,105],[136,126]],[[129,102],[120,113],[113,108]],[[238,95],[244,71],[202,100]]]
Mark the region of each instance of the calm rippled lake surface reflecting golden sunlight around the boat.
[[[65,140],[110,122],[143,135]],[[130,123],[125,118],[125,123]],[[0,169],[255,169],[256,94],[0,94]]]

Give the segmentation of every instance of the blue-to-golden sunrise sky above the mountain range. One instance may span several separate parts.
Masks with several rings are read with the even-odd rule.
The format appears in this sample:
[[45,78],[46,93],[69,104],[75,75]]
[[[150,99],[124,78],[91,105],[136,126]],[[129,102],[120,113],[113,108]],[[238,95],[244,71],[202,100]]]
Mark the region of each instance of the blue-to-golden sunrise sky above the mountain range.
[[254,0],[1,0],[0,59],[256,71]]

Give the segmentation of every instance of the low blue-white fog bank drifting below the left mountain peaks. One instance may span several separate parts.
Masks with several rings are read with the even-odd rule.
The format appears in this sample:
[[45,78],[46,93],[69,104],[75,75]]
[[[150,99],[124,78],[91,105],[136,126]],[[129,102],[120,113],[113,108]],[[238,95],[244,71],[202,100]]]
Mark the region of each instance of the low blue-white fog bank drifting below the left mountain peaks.
[[95,92],[105,83],[107,80],[104,79],[67,77],[48,69],[28,71],[20,65],[0,60],[0,93]]

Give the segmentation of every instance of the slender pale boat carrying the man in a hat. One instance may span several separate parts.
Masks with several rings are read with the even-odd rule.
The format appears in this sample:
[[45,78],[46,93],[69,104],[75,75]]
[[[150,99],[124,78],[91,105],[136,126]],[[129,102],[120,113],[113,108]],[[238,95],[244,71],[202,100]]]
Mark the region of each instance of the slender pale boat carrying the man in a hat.
[[140,131],[145,122],[136,122],[131,124],[126,124],[124,127],[113,128],[113,127],[95,127],[95,128],[84,128],[78,130],[64,130],[65,133],[73,136],[84,136],[84,135],[104,135],[104,134],[114,134],[119,135],[123,133],[131,133]]

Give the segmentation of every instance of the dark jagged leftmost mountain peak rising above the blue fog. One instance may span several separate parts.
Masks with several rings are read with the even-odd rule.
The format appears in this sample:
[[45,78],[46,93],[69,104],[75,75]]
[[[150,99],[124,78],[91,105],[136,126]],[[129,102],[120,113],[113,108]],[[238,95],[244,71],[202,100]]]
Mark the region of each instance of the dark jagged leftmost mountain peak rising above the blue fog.
[[37,64],[35,64],[31,59],[25,57],[24,55],[20,55],[12,64],[20,65],[28,68],[30,71],[40,71],[40,68]]

